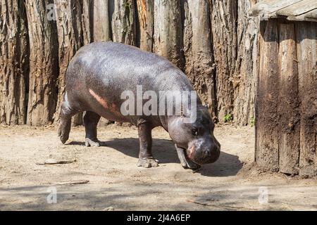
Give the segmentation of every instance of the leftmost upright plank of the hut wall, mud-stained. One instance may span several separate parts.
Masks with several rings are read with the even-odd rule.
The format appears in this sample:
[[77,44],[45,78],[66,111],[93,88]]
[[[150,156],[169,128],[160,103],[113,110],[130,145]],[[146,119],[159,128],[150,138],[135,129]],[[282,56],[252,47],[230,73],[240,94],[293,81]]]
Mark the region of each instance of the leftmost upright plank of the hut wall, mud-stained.
[[278,171],[278,25],[268,20],[261,41],[256,93],[256,164]]

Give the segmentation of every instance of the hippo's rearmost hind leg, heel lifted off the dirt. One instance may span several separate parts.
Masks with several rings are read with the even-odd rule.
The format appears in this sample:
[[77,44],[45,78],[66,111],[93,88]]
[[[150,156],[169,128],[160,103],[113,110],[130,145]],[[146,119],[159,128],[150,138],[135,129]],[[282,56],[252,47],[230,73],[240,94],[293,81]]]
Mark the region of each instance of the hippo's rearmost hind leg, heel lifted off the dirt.
[[70,107],[66,94],[66,100],[64,100],[63,103],[61,103],[61,120],[58,127],[58,136],[61,139],[62,143],[66,143],[66,141],[69,138],[72,116],[76,113],[78,112]]

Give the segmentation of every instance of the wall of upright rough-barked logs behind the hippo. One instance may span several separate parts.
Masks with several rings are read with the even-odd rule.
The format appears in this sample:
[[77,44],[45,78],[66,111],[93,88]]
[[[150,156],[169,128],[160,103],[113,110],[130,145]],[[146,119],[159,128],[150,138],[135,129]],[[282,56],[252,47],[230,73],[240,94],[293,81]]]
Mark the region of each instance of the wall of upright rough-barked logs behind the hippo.
[[[58,121],[68,62],[92,41],[153,51],[186,72],[213,118],[254,118],[255,0],[0,0],[0,123]],[[80,124],[81,116],[75,117]]]

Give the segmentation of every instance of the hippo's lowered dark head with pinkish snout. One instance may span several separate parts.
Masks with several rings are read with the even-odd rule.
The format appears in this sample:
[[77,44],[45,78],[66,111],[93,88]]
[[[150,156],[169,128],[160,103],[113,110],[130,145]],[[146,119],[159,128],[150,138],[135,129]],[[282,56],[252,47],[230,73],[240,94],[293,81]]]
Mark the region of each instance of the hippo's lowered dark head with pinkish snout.
[[215,124],[208,108],[198,105],[196,117],[193,123],[184,122],[184,117],[174,117],[168,122],[168,133],[178,148],[186,150],[187,157],[193,162],[199,165],[216,162],[220,143],[213,136]]

